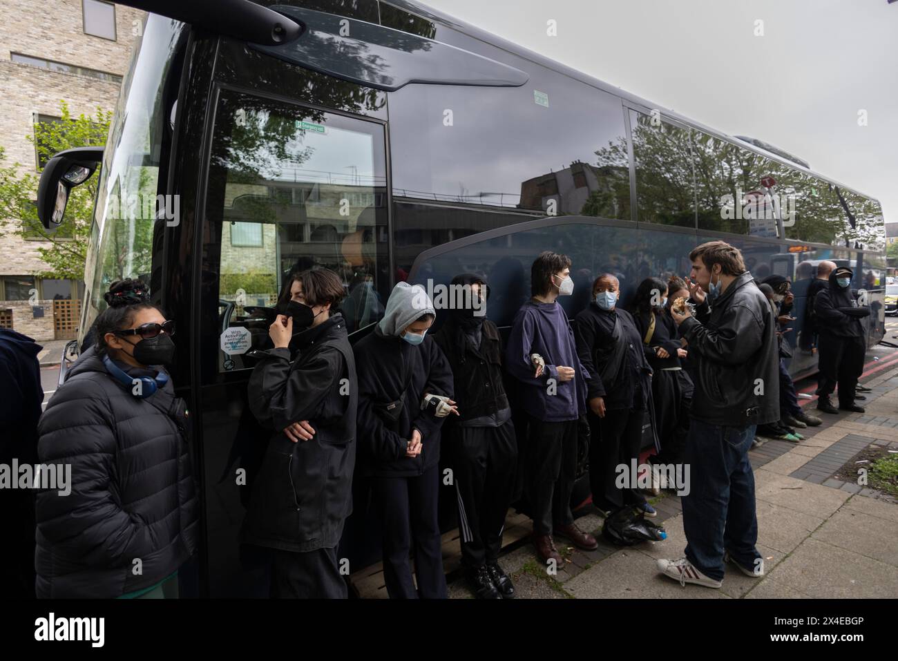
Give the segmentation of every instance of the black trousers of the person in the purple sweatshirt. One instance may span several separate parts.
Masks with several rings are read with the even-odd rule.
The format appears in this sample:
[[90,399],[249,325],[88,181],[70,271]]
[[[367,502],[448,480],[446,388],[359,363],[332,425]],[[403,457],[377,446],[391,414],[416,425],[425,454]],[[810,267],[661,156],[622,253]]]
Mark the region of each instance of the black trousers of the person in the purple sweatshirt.
[[555,525],[574,523],[570,494],[577,477],[577,420],[530,419],[527,436],[527,500],[533,532],[551,534]]

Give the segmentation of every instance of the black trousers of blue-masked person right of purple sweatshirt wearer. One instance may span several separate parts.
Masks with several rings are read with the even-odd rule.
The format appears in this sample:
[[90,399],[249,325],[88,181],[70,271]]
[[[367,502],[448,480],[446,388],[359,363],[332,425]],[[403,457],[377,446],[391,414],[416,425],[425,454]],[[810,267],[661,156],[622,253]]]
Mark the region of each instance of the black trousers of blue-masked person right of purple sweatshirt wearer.
[[618,466],[623,464],[629,473],[630,460],[638,460],[644,415],[642,410],[615,409],[605,410],[605,417],[599,418],[590,411],[589,486],[596,505],[620,508],[646,502],[636,485],[618,489],[615,483]]

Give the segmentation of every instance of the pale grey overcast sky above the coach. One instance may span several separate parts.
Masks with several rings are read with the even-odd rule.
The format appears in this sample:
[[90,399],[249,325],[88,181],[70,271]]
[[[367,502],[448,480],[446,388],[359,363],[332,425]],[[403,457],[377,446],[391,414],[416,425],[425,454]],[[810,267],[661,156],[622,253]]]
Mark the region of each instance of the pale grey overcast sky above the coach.
[[[777,145],[879,199],[885,221],[898,222],[898,2],[422,2],[709,127]],[[550,19],[557,37],[546,33]]]

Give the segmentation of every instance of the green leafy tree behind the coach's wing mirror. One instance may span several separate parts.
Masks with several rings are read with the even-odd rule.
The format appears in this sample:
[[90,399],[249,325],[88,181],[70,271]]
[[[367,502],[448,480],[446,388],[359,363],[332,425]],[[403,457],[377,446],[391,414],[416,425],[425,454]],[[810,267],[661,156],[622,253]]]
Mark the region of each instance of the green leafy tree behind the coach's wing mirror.
[[[111,110],[97,109],[93,117],[73,116],[66,101],[59,101],[58,121],[40,122],[34,135],[27,136],[35,146],[40,163],[64,149],[106,144]],[[93,200],[99,173],[71,190],[66,217],[56,232],[40,225],[38,196],[40,172],[35,174],[21,163],[5,164],[5,150],[0,146],[0,235],[15,234],[23,239],[40,238],[49,243],[38,247],[40,259],[47,265],[31,275],[40,278],[84,278],[84,260],[91,234]]]

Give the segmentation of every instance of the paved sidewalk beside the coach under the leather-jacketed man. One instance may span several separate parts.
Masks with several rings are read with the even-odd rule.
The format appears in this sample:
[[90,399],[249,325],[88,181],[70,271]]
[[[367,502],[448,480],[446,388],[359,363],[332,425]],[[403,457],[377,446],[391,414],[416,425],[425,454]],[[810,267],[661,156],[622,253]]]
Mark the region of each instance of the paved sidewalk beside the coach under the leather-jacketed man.
[[[499,562],[524,598],[898,597],[898,504],[872,489],[830,478],[863,446],[878,442],[898,449],[898,365],[864,384],[873,389],[865,393],[867,401],[858,402],[866,413],[821,413],[821,427],[798,430],[806,436],[803,442],[770,441],[750,453],[764,577],[747,577],[727,566],[723,587],[716,590],[682,587],[659,575],[656,559],[680,558],[685,547],[675,495],[650,499],[658,510],[655,522],[663,521],[668,533],[664,542],[612,546],[599,534],[602,518],[589,514],[577,524],[594,532],[598,551],[559,546],[567,561],[558,575],[546,573],[528,542],[519,542]],[[462,580],[454,581],[449,592],[471,597]]]

